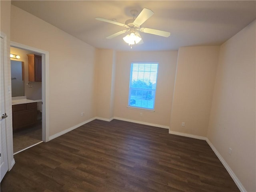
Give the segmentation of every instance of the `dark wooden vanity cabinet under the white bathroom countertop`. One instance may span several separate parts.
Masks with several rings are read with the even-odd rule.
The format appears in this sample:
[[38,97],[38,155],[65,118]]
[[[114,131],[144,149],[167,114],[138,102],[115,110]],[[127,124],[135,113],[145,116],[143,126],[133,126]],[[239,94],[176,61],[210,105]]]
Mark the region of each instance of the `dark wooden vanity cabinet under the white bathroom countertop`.
[[37,122],[37,103],[12,106],[12,130],[21,130]]

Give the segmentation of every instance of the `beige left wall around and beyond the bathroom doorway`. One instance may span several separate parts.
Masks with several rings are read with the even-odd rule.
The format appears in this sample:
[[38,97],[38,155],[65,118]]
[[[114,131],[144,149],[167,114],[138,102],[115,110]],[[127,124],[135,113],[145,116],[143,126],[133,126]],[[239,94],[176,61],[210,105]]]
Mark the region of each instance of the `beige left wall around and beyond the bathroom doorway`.
[[15,6],[11,40],[49,52],[50,136],[94,117],[95,48]]

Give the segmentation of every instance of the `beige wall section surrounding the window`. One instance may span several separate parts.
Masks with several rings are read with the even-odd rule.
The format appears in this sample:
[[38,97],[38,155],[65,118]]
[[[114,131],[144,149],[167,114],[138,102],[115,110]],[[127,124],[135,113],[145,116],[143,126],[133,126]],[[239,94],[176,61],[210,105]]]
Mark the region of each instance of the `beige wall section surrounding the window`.
[[[177,53],[177,51],[116,53],[115,117],[169,126]],[[131,62],[159,62],[154,112],[127,108]]]

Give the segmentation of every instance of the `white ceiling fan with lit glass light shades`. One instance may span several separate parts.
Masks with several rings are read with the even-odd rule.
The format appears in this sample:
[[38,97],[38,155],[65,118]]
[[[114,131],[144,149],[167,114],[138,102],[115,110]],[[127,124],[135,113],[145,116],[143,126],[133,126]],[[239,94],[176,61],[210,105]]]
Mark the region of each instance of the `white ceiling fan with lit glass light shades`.
[[149,34],[154,34],[154,35],[159,35],[159,36],[163,36],[163,37],[169,37],[170,36],[170,32],[141,27],[141,25],[146,20],[148,20],[148,18],[150,18],[154,14],[154,12],[152,10],[144,8],[140,12],[140,14],[135,18],[137,13],[138,13],[137,10],[131,10],[131,14],[132,14],[133,18],[126,20],[125,24],[122,24],[122,23],[119,23],[119,22],[116,22],[116,21],[113,21],[113,20],[100,18],[100,17],[96,17],[96,20],[100,20],[100,21],[104,21],[104,22],[108,22],[108,23],[112,23],[112,24],[115,24],[115,25],[125,27],[126,28],[125,30],[119,31],[115,34],[112,34],[112,35],[106,37],[106,38],[107,39],[112,39],[112,38],[114,38],[118,35],[129,32],[129,34],[126,35],[123,39],[126,43],[128,43],[131,46],[131,48],[132,48],[132,45],[138,44],[139,42],[140,43],[143,42],[138,31],[144,32],[144,33],[149,33]]

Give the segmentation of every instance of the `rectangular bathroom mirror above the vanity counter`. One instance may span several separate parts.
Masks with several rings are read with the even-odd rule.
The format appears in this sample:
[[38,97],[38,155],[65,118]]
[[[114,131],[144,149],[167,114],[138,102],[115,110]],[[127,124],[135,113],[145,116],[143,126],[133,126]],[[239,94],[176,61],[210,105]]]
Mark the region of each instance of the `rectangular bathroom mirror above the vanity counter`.
[[11,60],[12,97],[24,96],[24,62]]

